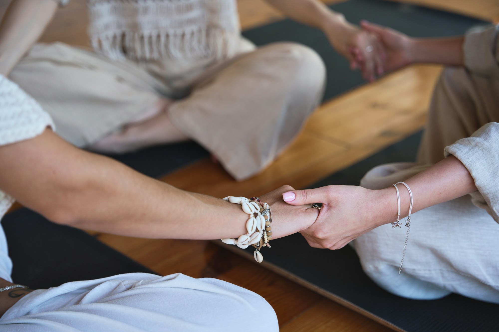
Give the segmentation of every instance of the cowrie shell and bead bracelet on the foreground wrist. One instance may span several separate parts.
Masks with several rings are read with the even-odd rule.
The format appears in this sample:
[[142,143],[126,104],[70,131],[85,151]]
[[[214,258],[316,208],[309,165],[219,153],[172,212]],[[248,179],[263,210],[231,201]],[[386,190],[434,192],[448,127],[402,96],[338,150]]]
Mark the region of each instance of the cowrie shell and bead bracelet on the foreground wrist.
[[222,242],[227,244],[235,244],[240,248],[246,249],[250,245],[255,248],[253,257],[255,261],[261,263],[263,256],[260,249],[263,246],[270,248],[268,242],[272,239],[272,214],[270,206],[267,203],[262,203],[258,197],[227,196],[224,198],[231,203],[240,204],[245,213],[248,214],[249,219],[246,221],[246,230],[248,233],[241,235],[237,239],[222,239]]

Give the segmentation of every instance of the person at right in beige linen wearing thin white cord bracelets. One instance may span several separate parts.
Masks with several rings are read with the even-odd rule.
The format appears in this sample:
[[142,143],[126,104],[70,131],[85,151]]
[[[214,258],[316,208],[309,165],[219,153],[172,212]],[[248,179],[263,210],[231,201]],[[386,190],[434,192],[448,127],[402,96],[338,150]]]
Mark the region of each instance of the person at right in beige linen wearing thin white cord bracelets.
[[[366,274],[393,294],[431,300],[458,293],[499,303],[499,28],[416,39],[362,25],[383,42],[387,70],[415,62],[448,65],[433,93],[417,163],[378,166],[361,186],[291,191],[284,200],[324,203],[302,232],[308,243],[339,249],[355,239]],[[408,242],[404,230],[389,224],[399,219],[392,186],[398,181],[412,191],[398,184],[400,218],[410,214],[412,200],[416,212]]]

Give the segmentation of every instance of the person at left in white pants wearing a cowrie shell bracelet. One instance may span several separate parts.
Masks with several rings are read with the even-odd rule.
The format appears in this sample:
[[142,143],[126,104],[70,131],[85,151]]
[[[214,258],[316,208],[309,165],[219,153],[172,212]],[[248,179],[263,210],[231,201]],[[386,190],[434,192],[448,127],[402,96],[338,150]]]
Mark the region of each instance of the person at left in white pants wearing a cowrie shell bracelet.
[[[0,218],[15,198],[59,224],[148,238],[238,237],[241,247],[261,247],[263,239],[300,231],[318,215],[310,205],[282,202],[282,192],[292,189],[285,186],[260,197],[271,209],[272,229],[264,220],[255,230],[248,221],[262,213],[252,203],[174,188],[79,150],[47,127],[54,128],[50,116],[0,75]],[[263,298],[221,280],[129,273],[31,291],[13,284],[11,269],[0,228],[1,331],[278,331]]]

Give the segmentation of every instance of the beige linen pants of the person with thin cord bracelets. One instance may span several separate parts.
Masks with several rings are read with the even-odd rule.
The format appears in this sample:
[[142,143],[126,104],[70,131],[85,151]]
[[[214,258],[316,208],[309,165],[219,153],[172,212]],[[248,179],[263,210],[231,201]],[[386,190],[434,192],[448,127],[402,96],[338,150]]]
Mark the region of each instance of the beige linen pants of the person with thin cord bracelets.
[[[375,167],[361,185],[378,189],[407,179],[442,160],[446,146],[498,120],[499,81],[463,68],[446,68],[433,94],[419,165]],[[405,188],[401,194],[407,194]],[[470,195],[413,214],[404,266],[398,275],[405,231],[387,224],[353,243],[364,271],[379,286],[411,299],[458,293],[499,303],[499,224],[475,206]]]

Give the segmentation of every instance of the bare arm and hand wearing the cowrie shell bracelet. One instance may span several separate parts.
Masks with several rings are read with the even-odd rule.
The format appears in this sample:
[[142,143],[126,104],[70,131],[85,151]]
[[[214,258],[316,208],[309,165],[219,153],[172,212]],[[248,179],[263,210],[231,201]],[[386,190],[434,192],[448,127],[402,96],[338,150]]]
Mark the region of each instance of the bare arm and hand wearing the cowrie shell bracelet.
[[[0,188],[48,219],[119,235],[220,239],[246,233],[240,205],[177,189],[110,158],[77,149],[50,130],[0,147]],[[317,213],[261,197],[272,208],[273,237],[309,226]],[[228,193],[235,194],[235,193]]]

